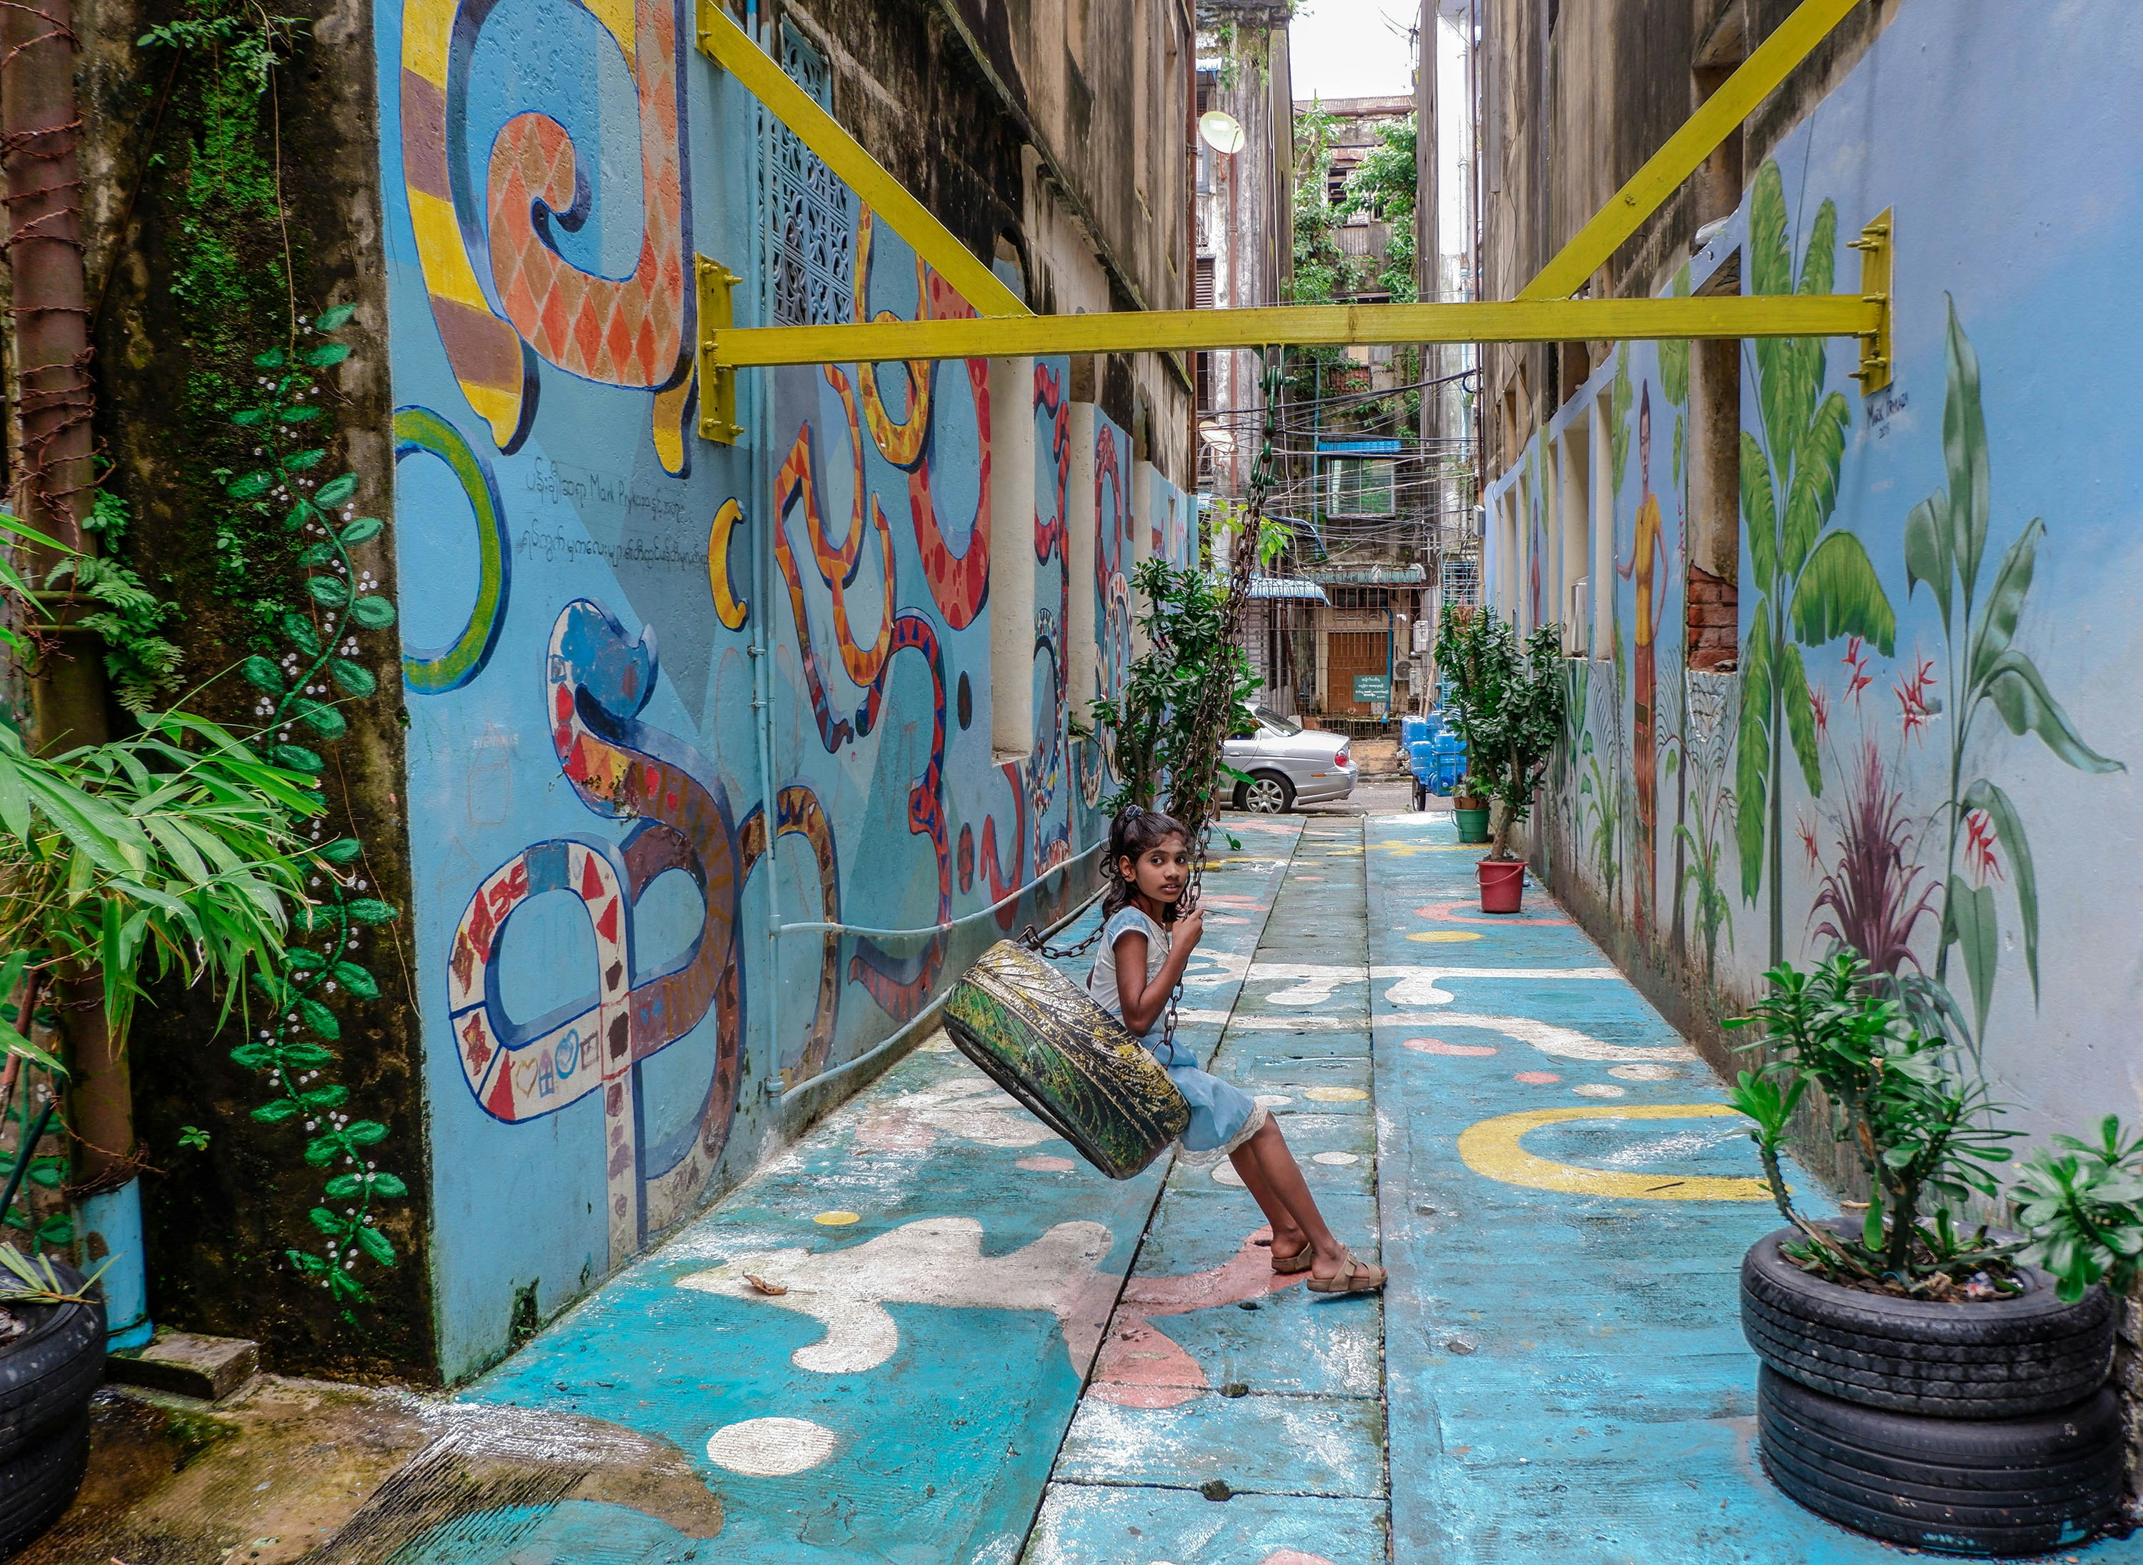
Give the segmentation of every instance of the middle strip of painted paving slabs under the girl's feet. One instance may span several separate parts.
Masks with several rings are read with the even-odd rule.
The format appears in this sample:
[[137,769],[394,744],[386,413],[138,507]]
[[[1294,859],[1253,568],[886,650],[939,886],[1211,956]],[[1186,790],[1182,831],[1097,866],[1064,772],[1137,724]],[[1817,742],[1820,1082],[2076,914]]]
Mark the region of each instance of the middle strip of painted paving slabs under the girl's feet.
[[[1363,941],[1361,821],[1312,817],[1211,1068],[1273,1111],[1333,1231],[1374,1261]],[[1273,988],[1348,956],[1314,1018]],[[1387,1559],[1382,1303],[1275,1276],[1264,1233],[1232,1166],[1177,1160],[1026,1565]]]

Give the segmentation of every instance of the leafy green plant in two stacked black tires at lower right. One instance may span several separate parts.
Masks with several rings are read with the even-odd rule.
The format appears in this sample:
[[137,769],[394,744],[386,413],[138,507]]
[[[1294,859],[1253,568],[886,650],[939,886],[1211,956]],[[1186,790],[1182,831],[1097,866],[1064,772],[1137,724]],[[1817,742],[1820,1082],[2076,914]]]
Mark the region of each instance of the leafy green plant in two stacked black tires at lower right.
[[[1999,1194],[2017,1132],[1948,1040],[1916,1031],[1845,950],[1766,973],[1770,1059],[1740,1072],[1787,1226],[1742,1258],[1742,1331],[1764,1359],[1764,1469],[1845,1526],[1914,1548],[2036,1554],[2104,1524],[2122,1496],[2115,1297],[2143,1256],[2143,1145],[2057,1138],[2010,1192],[2023,1233],[1963,1220]],[[1794,1207],[1779,1162],[1809,1087],[1867,1179],[1856,1222]]]

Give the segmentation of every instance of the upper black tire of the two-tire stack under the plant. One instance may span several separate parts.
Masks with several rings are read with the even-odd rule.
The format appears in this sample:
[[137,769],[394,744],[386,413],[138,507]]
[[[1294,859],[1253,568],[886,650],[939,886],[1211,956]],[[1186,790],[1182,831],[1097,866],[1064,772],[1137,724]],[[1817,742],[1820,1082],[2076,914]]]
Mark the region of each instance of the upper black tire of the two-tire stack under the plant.
[[2074,1406],[2113,1372],[2115,1303],[2062,1303],[2027,1269],[2014,1299],[1933,1303],[1841,1288],[1779,1254],[1792,1228],[1742,1256],[1742,1336],[1779,1374],[1847,1402],[1946,1419],[2017,1419]]

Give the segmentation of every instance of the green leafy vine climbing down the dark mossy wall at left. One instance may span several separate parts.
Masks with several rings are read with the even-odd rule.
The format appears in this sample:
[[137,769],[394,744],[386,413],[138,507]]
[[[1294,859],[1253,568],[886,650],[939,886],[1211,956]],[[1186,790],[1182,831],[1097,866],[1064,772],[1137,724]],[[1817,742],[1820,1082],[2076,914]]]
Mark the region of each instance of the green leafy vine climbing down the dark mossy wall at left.
[[[184,446],[171,459],[212,517],[174,542],[206,545],[201,587],[236,615],[225,635],[249,654],[255,744],[326,785],[349,703],[379,690],[364,643],[392,628],[394,605],[354,560],[381,523],[358,515],[358,476],[330,465],[334,373],[351,352],[339,337],[354,309],[306,319],[298,304],[313,268],[285,195],[279,90],[306,28],[246,0],[186,0],[139,43],[169,60],[159,99],[169,133],[150,174],[169,214],[169,309],[184,347],[174,418]],[[321,1179],[317,1235],[285,1256],[354,1318],[371,1297],[364,1267],[396,1261],[381,1205],[409,1188],[384,1166],[388,1126],[356,1113],[334,1078],[336,1046],[347,1001],[379,997],[366,939],[399,913],[347,823],[336,834],[315,819],[313,851],[313,903],[294,915],[281,967],[257,980],[268,1010],[231,1059],[268,1087],[251,1119],[302,1130]]]

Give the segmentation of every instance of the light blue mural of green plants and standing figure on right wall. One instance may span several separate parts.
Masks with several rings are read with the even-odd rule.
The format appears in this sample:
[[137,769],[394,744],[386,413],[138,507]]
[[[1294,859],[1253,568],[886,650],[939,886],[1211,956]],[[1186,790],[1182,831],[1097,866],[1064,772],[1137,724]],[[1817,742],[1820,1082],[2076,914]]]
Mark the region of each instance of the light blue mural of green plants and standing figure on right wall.
[[[1532,845],[1556,888],[1721,1014],[1772,963],[1854,945],[2034,1132],[2143,1104],[2115,1042],[2143,892],[2113,868],[2143,834],[2122,776],[2143,472],[2092,392],[2126,345],[2074,309],[2143,242],[2132,167],[2083,152],[2137,144],[2139,60],[2132,17],[1907,6],[1674,279],[1738,253],[1749,292],[1845,289],[1847,242],[1894,208],[1888,388],[1860,394],[1847,341],[1742,345],[1729,673],[1684,658],[1687,345],[1618,347],[1487,493],[1492,515],[1558,493],[1532,474],[1603,418],[1609,639],[1569,665]],[[2077,84],[2062,109],[2027,88],[2053,77]],[[1588,575],[1556,534],[1492,568]]]

